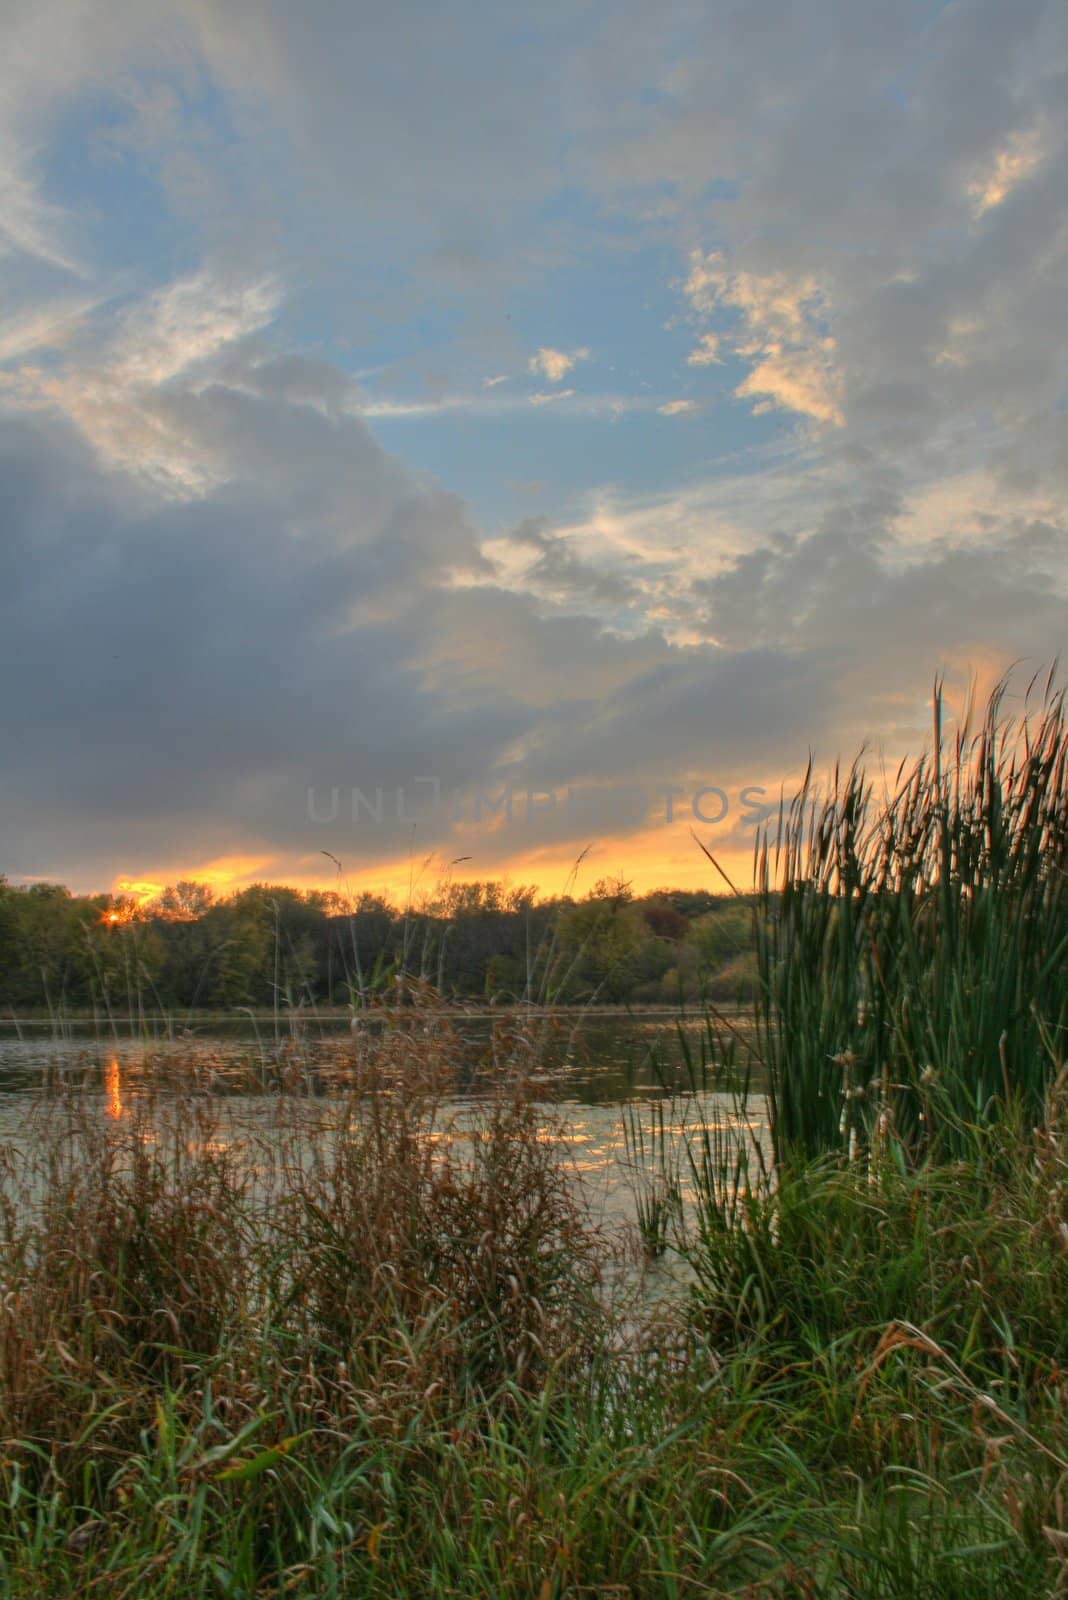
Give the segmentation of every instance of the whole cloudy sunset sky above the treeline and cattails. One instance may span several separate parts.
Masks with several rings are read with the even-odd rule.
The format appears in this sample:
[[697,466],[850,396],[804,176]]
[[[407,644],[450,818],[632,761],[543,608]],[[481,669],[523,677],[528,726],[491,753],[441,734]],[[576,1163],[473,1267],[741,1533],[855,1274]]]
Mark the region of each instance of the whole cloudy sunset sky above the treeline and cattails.
[[711,886],[1062,653],[1062,0],[5,40],[13,882]]

